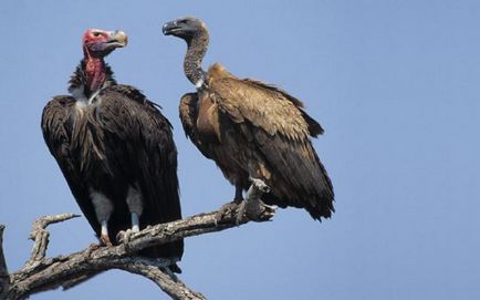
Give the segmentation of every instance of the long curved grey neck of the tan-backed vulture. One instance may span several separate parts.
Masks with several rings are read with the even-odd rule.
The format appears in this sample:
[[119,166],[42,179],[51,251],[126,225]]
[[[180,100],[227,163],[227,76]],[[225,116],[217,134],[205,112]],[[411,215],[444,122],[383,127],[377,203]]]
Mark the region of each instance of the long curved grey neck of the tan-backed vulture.
[[187,40],[187,54],[184,61],[184,71],[187,79],[200,89],[206,80],[206,72],[201,69],[201,61],[208,48],[208,32],[201,31],[192,39]]

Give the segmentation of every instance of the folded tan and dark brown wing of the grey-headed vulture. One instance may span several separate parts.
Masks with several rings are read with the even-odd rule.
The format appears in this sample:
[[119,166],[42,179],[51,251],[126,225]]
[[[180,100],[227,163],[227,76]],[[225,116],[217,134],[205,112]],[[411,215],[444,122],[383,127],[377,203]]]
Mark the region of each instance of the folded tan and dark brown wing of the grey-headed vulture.
[[270,201],[305,208],[315,219],[330,217],[332,183],[309,138],[323,130],[302,110],[302,103],[280,89],[253,80],[225,76],[209,84],[219,110],[238,126],[237,133],[250,142],[244,146],[261,155],[278,178],[272,189],[282,195]]

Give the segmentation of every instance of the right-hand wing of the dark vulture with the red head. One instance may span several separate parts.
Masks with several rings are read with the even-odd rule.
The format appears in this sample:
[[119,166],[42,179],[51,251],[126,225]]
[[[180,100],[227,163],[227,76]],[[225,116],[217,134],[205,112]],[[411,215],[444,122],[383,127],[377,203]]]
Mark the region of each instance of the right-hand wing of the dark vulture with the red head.
[[[133,86],[106,87],[98,99],[96,120],[104,130],[105,152],[142,190],[140,227],[180,219],[171,124]],[[159,251],[156,255],[181,256],[182,245],[182,241],[163,245],[156,248]]]

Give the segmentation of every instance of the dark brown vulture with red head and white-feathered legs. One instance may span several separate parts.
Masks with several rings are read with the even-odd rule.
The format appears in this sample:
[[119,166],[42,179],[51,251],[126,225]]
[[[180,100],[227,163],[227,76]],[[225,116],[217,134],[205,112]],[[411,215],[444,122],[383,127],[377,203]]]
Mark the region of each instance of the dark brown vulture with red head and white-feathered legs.
[[[71,95],[53,97],[41,124],[51,154],[103,245],[115,244],[119,231],[181,218],[171,125],[140,91],[117,84],[104,62],[126,43],[122,31],[87,30],[84,58],[70,80]],[[179,260],[182,251],[180,240],[140,255]]]

